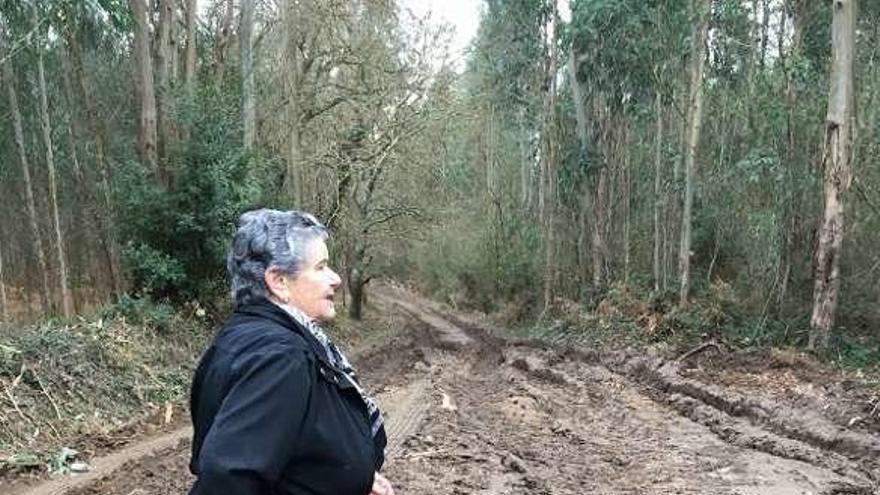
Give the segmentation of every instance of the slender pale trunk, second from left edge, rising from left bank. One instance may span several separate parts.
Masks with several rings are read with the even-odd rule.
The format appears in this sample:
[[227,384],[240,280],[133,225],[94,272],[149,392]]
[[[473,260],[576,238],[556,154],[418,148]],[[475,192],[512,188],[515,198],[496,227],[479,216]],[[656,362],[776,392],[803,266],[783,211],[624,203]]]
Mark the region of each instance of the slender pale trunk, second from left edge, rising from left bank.
[[[31,4],[34,28],[39,30],[40,19],[37,13],[37,4]],[[67,256],[64,252],[64,236],[61,234],[61,220],[58,215],[58,188],[55,184],[55,152],[52,146],[52,130],[49,122],[49,102],[46,96],[46,71],[43,67],[44,40],[41,34],[38,36],[39,47],[37,48],[37,82],[40,88],[40,123],[43,130],[43,144],[46,146],[46,169],[49,176],[49,207],[52,211],[52,226],[55,231],[55,254],[58,258],[58,284],[61,288],[61,307],[64,316],[73,316],[73,296],[68,282]]]

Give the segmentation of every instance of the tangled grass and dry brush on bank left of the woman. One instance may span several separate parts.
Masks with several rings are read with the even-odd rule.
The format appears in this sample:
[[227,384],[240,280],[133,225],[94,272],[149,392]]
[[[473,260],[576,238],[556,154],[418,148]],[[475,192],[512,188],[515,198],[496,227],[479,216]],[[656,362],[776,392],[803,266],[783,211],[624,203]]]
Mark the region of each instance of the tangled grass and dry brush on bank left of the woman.
[[122,297],[89,317],[0,326],[0,472],[52,465],[77,438],[183,401],[204,313]]

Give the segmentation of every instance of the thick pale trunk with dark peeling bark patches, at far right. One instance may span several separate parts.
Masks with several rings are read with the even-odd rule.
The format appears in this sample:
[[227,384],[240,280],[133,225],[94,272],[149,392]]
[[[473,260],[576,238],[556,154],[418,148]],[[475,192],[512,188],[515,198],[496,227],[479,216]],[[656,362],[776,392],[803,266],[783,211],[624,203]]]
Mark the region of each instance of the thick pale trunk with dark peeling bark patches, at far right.
[[856,0],[834,0],[831,24],[831,85],[825,118],[824,208],[813,262],[810,348],[825,350],[840,289],[840,255],[846,229],[843,196],[853,179]]

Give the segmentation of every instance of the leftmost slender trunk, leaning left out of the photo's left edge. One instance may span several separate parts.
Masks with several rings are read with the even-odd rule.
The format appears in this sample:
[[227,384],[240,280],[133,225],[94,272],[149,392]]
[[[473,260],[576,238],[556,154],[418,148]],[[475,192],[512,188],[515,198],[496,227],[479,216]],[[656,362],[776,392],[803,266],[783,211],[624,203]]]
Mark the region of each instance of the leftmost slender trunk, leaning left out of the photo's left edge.
[[[37,208],[34,201],[34,190],[31,184],[30,165],[28,165],[27,150],[24,144],[24,131],[21,125],[21,111],[18,106],[18,95],[15,92],[15,72],[12,69],[12,59],[6,50],[5,33],[0,32],[0,57],[6,59],[3,63],[3,78],[6,80],[6,90],[9,97],[9,111],[12,113],[12,127],[15,134],[15,145],[18,149],[18,158],[21,163],[22,179],[24,180],[25,204],[27,206],[28,226],[31,230],[32,246],[37,257],[37,269],[40,272],[40,306],[44,313],[51,311],[49,303],[49,269],[46,264],[46,252],[43,250],[43,242],[40,236],[40,227],[37,223]],[[2,59],[0,59],[2,60]]]

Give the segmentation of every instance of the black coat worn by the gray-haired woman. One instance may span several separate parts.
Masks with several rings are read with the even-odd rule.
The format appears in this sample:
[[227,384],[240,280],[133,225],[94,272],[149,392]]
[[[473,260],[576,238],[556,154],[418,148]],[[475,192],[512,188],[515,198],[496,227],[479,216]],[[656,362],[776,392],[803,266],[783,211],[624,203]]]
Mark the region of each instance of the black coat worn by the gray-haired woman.
[[366,405],[278,306],[239,306],[193,379],[190,495],[366,495],[384,461]]

